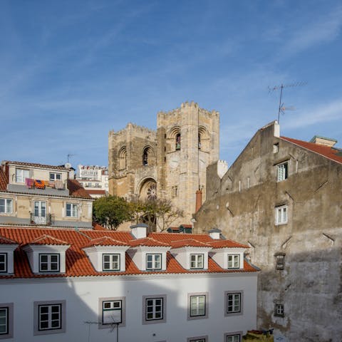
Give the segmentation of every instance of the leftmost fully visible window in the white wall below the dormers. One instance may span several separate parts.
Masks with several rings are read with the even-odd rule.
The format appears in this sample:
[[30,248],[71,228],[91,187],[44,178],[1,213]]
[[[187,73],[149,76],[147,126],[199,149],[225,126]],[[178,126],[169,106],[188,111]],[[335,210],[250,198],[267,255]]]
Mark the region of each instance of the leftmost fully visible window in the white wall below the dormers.
[[38,305],[38,330],[62,328],[62,304]]

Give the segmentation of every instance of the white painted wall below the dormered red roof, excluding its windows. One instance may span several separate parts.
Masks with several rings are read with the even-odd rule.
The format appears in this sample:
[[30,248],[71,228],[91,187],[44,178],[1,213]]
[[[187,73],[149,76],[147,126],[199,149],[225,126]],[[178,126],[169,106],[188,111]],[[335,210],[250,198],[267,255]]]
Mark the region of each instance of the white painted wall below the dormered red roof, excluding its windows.
[[[3,279],[0,304],[14,304],[14,338],[6,341],[116,341],[116,331],[99,329],[98,299],[125,297],[125,326],[118,341],[182,342],[209,336],[224,341],[224,333],[247,331],[257,323],[257,273],[103,276],[69,279]],[[243,314],[224,316],[224,291],[244,292]],[[209,293],[208,318],[187,320],[187,294]],[[142,296],[167,296],[166,323],[142,324]],[[66,332],[33,336],[33,302],[66,301]]]

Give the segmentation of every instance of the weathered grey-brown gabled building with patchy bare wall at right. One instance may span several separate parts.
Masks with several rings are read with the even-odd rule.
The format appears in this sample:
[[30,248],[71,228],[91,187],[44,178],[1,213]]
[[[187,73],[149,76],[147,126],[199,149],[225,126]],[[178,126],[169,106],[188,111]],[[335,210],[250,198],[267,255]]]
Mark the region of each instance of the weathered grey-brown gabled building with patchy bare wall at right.
[[217,173],[222,162],[210,165],[195,232],[217,227],[249,244],[249,258],[261,267],[259,328],[289,341],[340,342],[342,151],[329,157],[327,139],[321,152],[296,141],[271,123],[224,175]]

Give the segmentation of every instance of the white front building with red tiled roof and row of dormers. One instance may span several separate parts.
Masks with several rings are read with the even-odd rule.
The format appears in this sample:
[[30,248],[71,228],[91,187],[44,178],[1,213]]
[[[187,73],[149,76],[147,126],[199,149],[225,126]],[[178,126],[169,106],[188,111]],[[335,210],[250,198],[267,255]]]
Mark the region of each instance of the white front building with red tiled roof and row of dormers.
[[256,328],[247,246],[144,228],[0,228],[0,339],[239,342]]

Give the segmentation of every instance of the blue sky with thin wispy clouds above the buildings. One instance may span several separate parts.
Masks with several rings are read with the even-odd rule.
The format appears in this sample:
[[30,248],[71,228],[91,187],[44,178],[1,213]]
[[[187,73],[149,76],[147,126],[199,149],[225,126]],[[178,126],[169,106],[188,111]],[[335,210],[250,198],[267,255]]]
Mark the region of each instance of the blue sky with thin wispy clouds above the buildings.
[[107,165],[108,131],[156,128],[186,100],[219,110],[234,162],[281,135],[342,147],[341,1],[0,1],[0,160]]

